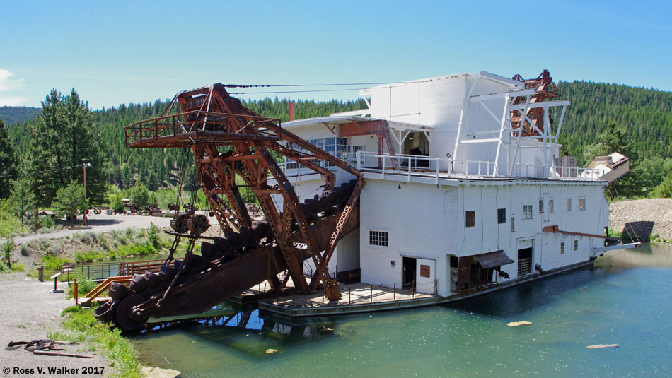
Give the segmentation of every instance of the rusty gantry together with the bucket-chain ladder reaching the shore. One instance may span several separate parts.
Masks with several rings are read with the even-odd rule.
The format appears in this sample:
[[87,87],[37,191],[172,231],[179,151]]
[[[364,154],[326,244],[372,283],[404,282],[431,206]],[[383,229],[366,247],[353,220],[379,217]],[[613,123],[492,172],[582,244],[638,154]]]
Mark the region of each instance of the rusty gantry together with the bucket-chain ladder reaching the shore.
[[[138,330],[149,317],[202,312],[264,280],[279,290],[289,277],[299,293],[310,293],[321,283],[328,298],[340,298],[328,261],[340,237],[359,227],[357,201],[364,182],[358,170],[282,129],[279,119],[243,107],[221,83],[178,93],[161,117],[127,126],[125,136],[129,148],[189,148],[209,215],[226,237],[202,235],[208,217],[185,203],[171,220],[175,240],[160,273],[136,275],[129,287],[113,283],[112,299],[94,311],[98,319]],[[318,172],[325,182],[323,193],[301,203],[272,151]],[[335,173],[319,160],[354,179],[336,187]],[[244,184],[236,183],[236,177]],[[265,220],[250,216],[241,187],[255,194]],[[282,196],[282,212],[274,195]],[[180,240],[187,240],[187,254],[175,260]],[[192,253],[197,240],[205,240],[201,255]],[[311,283],[301,268],[306,259],[316,268]],[[284,270],[289,274],[280,282],[277,274]]]

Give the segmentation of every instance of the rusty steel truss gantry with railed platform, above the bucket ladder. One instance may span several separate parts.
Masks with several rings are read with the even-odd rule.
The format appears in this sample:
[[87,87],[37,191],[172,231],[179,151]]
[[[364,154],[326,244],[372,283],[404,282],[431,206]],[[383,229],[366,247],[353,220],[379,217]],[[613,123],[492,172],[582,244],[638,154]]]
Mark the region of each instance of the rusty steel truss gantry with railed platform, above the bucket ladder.
[[[171,114],[178,107],[180,112]],[[338,283],[329,276],[328,261],[339,240],[340,230],[347,223],[354,202],[359,199],[364,184],[359,170],[282,129],[279,119],[260,117],[243,107],[240,100],[228,95],[221,83],[178,93],[161,117],[127,126],[125,136],[129,148],[190,148],[202,190],[222,230],[238,230],[252,223],[236,184],[236,175],[242,177],[245,186],[259,199],[296,289],[309,293],[318,283],[318,279],[313,279],[308,285],[294,253],[296,236],[293,234],[298,231],[317,268],[313,278],[319,278],[328,298],[340,298]],[[294,143],[304,152],[286,148],[282,142]],[[340,215],[324,254],[318,250],[294,187],[270,151],[318,172],[325,181],[325,190],[335,186],[335,174],[313,163],[314,160],[327,160],[357,177],[357,187]],[[274,177],[277,186],[267,184],[269,176]],[[282,195],[282,213],[275,206],[272,194]],[[229,204],[221,196],[226,196]],[[272,285],[278,282],[274,280]]]

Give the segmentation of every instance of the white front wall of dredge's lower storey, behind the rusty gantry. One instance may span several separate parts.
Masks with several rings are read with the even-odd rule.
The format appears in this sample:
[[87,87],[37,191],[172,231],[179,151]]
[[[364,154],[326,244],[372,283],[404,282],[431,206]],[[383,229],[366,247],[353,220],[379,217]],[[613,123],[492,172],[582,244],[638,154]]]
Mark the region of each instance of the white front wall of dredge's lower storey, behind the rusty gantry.
[[[456,249],[456,203],[454,187],[367,179],[360,209],[362,282],[400,288],[402,256],[432,259],[431,279],[438,278],[439,295],[448,295],[445,260]],[[371,230],[387,231],[388,247],[369,245]]]

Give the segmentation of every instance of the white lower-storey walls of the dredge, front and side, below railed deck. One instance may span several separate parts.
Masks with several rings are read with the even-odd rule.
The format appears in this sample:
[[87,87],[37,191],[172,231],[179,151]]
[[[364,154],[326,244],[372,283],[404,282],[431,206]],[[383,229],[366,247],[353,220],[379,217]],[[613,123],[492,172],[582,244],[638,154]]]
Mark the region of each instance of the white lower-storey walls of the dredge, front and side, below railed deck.
[[[398,187],[401,186],[401,189]],[[567,198],[572,211],[567,211]],[[586,210],[578,210],[578,199],[586,199]],[[543,199],[544,213],[538,201]],[[554,212],[548,213],[549,200]],[[523,203],[533,206],[533,218],[522,219]],[[591,208],[598,206],[598,208]],[[439,295],[449,294],[449,268],[446,256],[473,256],[503,250],[514,260],[502,266],[509,279],[517,278],[518,249],[525,241],[533,247],[532,266],[545,270],[560,268],[591,256],[591,248],[601,239],[542,232],[547,225],[560,230],[603,235],[608,224],[608,209],[600,185],[534,184],[533,182],[467,184],[437,188],[433,184],[367,179],[361,196],[360,264],[363,283],[398,287],[402,284],[402,256],[434,261],[431,278],[437,281]],[[497,222],[497,209],[506,209],[506,222]],[[475,211],[475,226],[465,227],[465,211]],[[514,232],[511,232],[511,218]],[[388,247],[369,245],[369,231],[387,231]],[[574,240],[578,249],[574,251]],[[565,252],[560,254],[560,242]],[[532,244],[533,243],[533,244]],[[395,261],[392,266],[391,261]],[[417,263],[417,275],[419,265]],[[497,277],[499,282],[506,279]],[[421,279],[418,277],[417,282]],[[424,281],[423,281],[424,282]],[[434,289],[432,289],[433,291]]]

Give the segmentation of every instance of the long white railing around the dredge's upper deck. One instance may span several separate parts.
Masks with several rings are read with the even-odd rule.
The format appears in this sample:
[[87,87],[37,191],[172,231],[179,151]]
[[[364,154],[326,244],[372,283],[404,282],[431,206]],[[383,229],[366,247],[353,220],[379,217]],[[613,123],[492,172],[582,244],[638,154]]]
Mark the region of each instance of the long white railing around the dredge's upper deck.
[[429,158],[419,155],[378,155],[366,151],[358,151],[356,167],[364,172],[385,175],[405,175],[410,177],[439,178],[466,177],[514,177],[533,179],[561,179],[577,181],[602,181],[604,170],[581,167],[545,167],[533,164],[515,164],[509,175],[509,166],[499,163],[497,167],[492,161],[485,160],[451,160],[446,158]]

